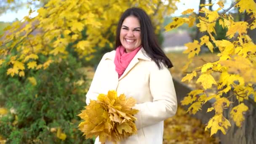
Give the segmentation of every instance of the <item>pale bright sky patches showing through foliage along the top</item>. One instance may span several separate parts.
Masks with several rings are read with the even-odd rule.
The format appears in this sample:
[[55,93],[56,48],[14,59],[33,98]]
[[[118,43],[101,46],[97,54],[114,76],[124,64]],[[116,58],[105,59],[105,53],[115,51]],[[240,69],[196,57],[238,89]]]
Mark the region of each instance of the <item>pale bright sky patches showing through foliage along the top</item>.
[[[212,3],[217,3],[219,0],[212,0]],[[225,8],[228,8],[232,2],[232,0],[226,0]],[[175,11],[171,16],[180,16],[182,11],[187,10],[188,8],[194,8],[195,11],[198,11],[200,0],[180,0],[179,3],[176,4],[178,10]],[[218,5],[213,5],[213,10],[216,10]],[[8,12],[0,16],[0,21],[11,22],[16,18],[21,20],[24,16],[27,16],[29,9],[23,8],[16,12]],[[37,13],[32,13],[32,16],[36,16]]]

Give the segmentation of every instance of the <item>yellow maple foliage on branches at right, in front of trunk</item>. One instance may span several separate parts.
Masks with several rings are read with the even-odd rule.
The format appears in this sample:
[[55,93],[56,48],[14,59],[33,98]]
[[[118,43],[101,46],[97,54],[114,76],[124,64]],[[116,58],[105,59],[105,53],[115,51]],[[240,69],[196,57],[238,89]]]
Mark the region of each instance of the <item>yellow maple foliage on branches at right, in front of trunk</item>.
[[[211,128],[211,135],[217,133],[218,130],[221,130],[222,133],[226,134],[227,128],[231,126],[229,121],[222,115],[223,109],[227,109],[229,105],[234,102],[229,101],[227,97],[235,96],[236,101],[238,100],[239,103],[241,103],[251,99],[250,95],[253,95],[254,101],[256,101],[256,92],[253,88],[253,85],[256,83],[256,45],[249,35],[247,35],[247,29],[256,28],[256,3],[253,0],[235,0],[235,3],[237,3],[235,7],[237,7],[239,12],[244,13],[245,11],[245,13],[250,16],[250,20],[237,21],[231,14],[219,14],[218,11],[221,8],[224,8],[223,0],[219,0],[217,3],[220,8],[216,11],[210,11],[205,8],[206,5],[213,4],[200,5],[203,8],[200,9],[199,12],[205,13],[205,16],[196,17],[192,14],[190,16],[199,20],[196,24],[197,28],[200,32],[207,32],[207,35],[200,37],[200,44],[198,44],[196,40],[194,43],[185,44],[188,49],[183,52],[188,53],[189,58],[194,58],[195,54],[199,53],[199,51],[197,52],[195,50],[199,50],[203,45],[206,45],[211,52],[213,52],[214,44],[216,45],[216,48],[219,48],[220,52],[216,54],[219,56],[217,59],[211,61],[202,59],[204,63],[200,65],[196,65],[195,62],[193,63],[193,61],[189,61],[189,63],[182,68],[182,72],[184,72],[189,65],[196,65],[194,69],[189,70],[196,72],[198,77],[196,83],[201,83],[203,87],[202,89],[207,89],[207,91],[200,96],[195,97],[189,95],[184,97],[181,104],[191,104],[187,109],[187,112],[195,114],[201,109],[202,104],[205,104],[211,99],[215,99],[212,107],[207,110],[207,112],[211,112],[214,109],[216,112],[216,115],[211,118],[205,128],[205,131]],[[228,8],[227,11],[231,8],[232,6]],[[186,12],[187,11],[184,11],[184,13]],[[186,23],[189,21],[188,18],[184,20]],[[216,35],[216,21],[219,22],[223,29],[227,29],[227,40],[215,40],[213,37],[213,34]],[[193,60],[195,60],[195,58]],[[193,73],[186,75],[181,81],[190,81],[194,76]],[[196,86],[198,87],[198,85]],[[208,91],[212,93],[210,96],[207,95]],[[224,93],[229,94],[229,91],[232,91],[233,94],[224,97]],[[235,113],[237,112],[237,109],[239,109],[237,107],[241,107],[241,112],[239,112],[239,114]],[[235,108],[235,111],[233,110],[230,114],[232,117],[235,117],[234,121],[236,122],[236,125],[241,126],[244,120],[242,113],[247,111],[248,107],[243,103],[237,107]]]

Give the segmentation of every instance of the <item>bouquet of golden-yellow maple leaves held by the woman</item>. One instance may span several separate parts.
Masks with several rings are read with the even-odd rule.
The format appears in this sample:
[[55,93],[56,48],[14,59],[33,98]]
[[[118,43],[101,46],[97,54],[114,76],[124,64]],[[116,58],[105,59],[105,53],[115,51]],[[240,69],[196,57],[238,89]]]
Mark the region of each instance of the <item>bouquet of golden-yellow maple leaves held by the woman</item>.
[[135,104],[135,99],[125,99],[124,94],[117,97],[116,91],[109,91],[107,95],[99,94],[97,100],[91,100],[78,115],[84,120],[78,128],[86,138],[99,136],[102,143],[117,143],[137,133],[136,117],[133,115],[139,110],[132,109]]

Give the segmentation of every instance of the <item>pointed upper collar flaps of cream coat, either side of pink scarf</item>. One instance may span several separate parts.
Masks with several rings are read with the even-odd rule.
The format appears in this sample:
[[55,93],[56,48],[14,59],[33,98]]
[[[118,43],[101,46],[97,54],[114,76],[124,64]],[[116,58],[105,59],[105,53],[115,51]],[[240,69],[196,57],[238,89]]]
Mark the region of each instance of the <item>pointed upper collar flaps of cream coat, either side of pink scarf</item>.
[[[104,59],[110,59],[112,61],[115,60],[115,50],[111,51],[109,53],[106,53],[106,55],[104,56]],[[144,50],[143,47],[141,47],[141,49],[138,51],[138,53],[136,53],[136,55],[134,56],[133,59],[143,59],[146,61],[152,61],[146,54],[146,51]]]

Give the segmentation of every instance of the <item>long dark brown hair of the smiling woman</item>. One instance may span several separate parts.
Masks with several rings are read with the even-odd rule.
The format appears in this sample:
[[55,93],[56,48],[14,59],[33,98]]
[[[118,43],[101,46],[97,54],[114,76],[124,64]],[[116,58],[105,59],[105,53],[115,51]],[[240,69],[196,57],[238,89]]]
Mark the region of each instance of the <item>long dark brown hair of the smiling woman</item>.
[[168,59],[168,57],[165,56],[165,53],[160,48],[160,45],[157,42],[154,28],[152,26],[152,22],[149,16],[141,8],[128,8],[122,14],[116,30],[115,50],[117,49],[118,46],[121,45],[120,30],[121,30],[123,21],[128,16],[135,16],[137,19],[139,19],[140,27],[141,27],[141,44],[144,50],[146,51],[147,56],[149,56],[150,59],[155,61],[159,69],[163,68],[160,62],[163,62],[163,64],[165,64],[165,66],[167,66],[168,68],[173,67],[173,64]]

